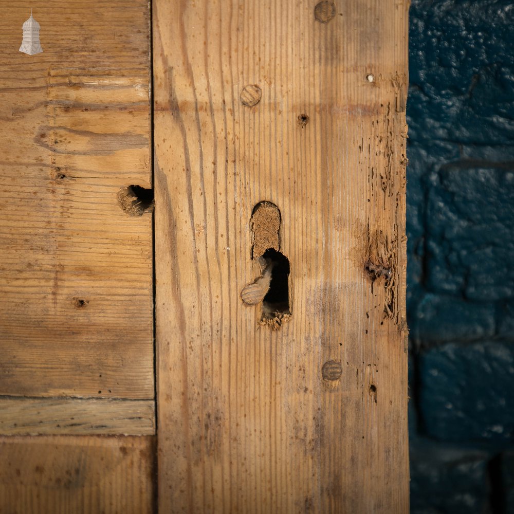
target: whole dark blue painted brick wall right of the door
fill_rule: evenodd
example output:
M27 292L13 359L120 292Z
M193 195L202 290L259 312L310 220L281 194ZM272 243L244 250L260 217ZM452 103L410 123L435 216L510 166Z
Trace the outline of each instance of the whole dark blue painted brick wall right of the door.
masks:
M514 3L413 0L411 512L514 513Z

